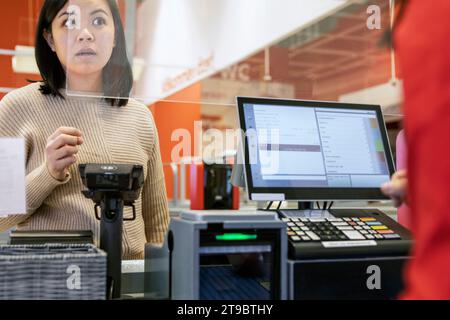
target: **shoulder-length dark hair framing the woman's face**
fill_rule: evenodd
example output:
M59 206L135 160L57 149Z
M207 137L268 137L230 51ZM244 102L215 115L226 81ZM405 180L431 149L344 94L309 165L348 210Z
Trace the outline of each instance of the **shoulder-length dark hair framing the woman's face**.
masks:
M36 30L36 62L42 77L42 94L64 98L59 89L65 86L66 74L58 59L44 38L44 31L51 31L51 24L57 13L68 0L45 0ZM125 33L115 0L106 0L112 12L115 27L115 47L111 58L103 68L103 92L111 106L125 106L133 86L133 72L127 57Z

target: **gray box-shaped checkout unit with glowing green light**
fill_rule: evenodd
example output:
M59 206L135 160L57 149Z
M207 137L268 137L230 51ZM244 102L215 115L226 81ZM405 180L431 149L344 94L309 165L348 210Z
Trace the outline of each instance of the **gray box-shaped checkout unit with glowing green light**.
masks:
M185 211L148 245L148 298L284 300L286 224L275 212Z

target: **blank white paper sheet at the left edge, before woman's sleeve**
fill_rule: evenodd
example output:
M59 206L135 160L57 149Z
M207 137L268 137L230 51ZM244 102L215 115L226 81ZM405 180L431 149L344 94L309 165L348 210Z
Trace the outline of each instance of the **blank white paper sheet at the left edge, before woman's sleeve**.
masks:
M0 138L0 217L26 213L25 141Z

